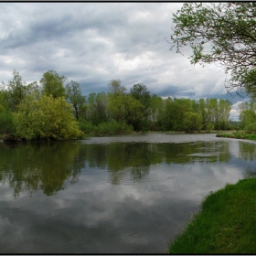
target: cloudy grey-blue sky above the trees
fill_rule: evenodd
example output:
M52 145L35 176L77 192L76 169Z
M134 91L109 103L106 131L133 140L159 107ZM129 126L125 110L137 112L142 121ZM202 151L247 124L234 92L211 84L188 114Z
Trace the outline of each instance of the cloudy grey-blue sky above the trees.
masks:
M16 69L27 83L55 70L82 93L108 91L121 80L129 92L143 83L161 97L228 99L239 120L240 96L230 96L227 75L202 68L170 50L173 13L183 3L0 3L0 82Z

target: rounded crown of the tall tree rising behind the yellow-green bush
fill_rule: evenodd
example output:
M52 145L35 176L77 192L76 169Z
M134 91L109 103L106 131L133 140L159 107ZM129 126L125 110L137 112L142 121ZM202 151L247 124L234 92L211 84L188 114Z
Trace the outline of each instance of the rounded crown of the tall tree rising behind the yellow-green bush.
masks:
M40 80L42 93L48 96L52 95L53 98L65 97L64 83L66 80L66 77L59 76L56 71L48 70Z

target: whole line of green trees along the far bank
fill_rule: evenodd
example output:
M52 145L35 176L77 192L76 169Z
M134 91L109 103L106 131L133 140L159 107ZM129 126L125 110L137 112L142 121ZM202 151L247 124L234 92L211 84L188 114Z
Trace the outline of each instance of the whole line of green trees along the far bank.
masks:
M14 69L0 90L0 133L28 140L80 138L86 134L133 131L227 130L231 102L218 99L163 99L143 83L128 92L121 80L108 91L82 94L80 84L48 70L27 84Z

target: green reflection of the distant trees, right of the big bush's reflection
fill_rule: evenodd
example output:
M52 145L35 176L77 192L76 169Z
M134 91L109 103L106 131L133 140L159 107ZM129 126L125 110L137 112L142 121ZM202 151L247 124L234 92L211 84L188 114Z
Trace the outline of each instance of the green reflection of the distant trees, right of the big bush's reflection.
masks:
M189 156L191 154L209 154L206 156ZM97 166L110 172L109 181L120 184L125 176L131 174L140 180L148 175L150 165L189 164L204 160L206 163L228 162L229 143L115 143L87 144L87 160L91 167Z

